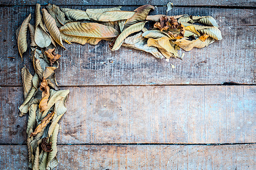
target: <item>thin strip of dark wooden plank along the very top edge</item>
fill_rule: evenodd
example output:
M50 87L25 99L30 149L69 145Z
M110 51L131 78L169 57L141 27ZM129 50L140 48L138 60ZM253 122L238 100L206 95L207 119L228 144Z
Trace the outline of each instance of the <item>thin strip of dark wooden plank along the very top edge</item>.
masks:
M8 0L1 0L0 5L35 5L35 3L41 3L42 5L46 5L47 3L54 3L56 5L157 5L163 6L166 5L168 0L158 1L158 0L135 0L135 1L118 1L118 0L106 0L106 1L89 1L89 0L80 0L80 1L72 1L72 0L31 0L31 1L24 1L24 0L15 0L15 1L8 1ZM256 6L255 1L253 0L234 0L234 1L226 1L226 0L192 0L192 1L181 1L181 0L173 0L171 1L174 3L175 6L249 6L253 7Z

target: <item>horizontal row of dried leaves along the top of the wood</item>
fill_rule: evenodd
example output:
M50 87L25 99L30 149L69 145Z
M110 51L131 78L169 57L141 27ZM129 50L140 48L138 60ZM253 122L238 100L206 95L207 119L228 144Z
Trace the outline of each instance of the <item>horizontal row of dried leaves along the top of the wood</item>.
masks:
M29 23L29 15L18 30L20 56L27 50L27 26L30 28L31 46L46 48L57 43L64 48L63 41L96 45L106 40L112 42L112 50L123 45L151 53L156 58L179 57L177 50L180 48L189 51L222 39L212 16L148 15L154 9L151 5L134 11L121 11L120 8L82 11L48 4L47 10L42 9L42 19L40 5L37 4L35 26ZM148 21L155 23L151 30L145 27Z

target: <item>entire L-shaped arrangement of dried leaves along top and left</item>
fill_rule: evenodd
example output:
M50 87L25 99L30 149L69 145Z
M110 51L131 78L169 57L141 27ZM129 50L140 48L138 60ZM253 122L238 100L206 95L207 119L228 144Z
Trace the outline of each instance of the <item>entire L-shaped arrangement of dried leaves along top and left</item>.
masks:
M172 4L167 7L168 12ZM151 5L134 11L121 11L120 6L82 11L48 4L42 9L43 16L40 8L36 4L35 25L30 24L30 14L16 30L21 57L27 50L27 28L30 30L30 58L35 69L34 76L26 66L22 69L24 102L19 107L19 116L29 113L27 149L28 167L32 169L53 169L58 164L58 122L67 111L69 90L59 90L55 79L60 58L57 45L64 48L63 41L96 45L106 40L111 50L123 45L169 59L180 58L180 48L189 51L222 39L212 16L148 15L154 10Z

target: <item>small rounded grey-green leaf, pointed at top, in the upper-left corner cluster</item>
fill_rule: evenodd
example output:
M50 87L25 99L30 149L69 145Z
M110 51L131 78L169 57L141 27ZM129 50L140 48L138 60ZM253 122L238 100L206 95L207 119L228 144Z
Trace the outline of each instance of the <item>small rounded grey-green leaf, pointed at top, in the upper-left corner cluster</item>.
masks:
M51 36L40 25L35 29L35 43L40 48L47 47L51 44Z

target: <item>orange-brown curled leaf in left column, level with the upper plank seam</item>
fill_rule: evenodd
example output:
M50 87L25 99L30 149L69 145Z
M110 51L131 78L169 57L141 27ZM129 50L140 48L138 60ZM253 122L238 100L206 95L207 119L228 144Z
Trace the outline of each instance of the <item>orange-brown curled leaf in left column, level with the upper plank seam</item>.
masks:
M40 99L40 103L39 103L39 109L41 112L43 112L47 109L47 102L50 95L49 86L45 78L41 82L40 90L42 90L43 92L42 92L42 99Z

